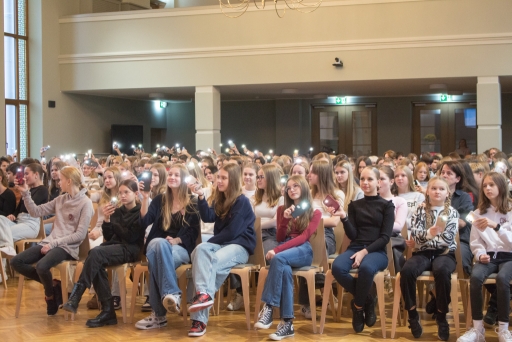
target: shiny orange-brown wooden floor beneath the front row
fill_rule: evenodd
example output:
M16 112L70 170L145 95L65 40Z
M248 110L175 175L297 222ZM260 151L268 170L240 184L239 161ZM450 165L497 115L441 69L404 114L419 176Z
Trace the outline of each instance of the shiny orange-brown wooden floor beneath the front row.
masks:
M20 317L14 317L16 305L17 278L7 281L8 290L0 288L0 340L1 341L157 341L157 340L181 340L192 341L266 341L268 334L275 331L275 324L269 330L247 330L244 311L230 312L221 310L220 316L211 316L208 323L207 333L200 338L187 336L188 326L184 326L183 319L176 315L168 315L168 326L162 329L137 330L133 324L122 323L122 314L119 310L116 326L103 328L87 328L85 321L98 314L96 310L87 310L85 303L90 298L85 294L76 315L75 321L65 321L64 314L60 311L56 316L46 316L46 303L43 299L42 285L35 281L25 281L23 299L20 310ZM131 282L128 293L131 293ZM129 301L130 295L128 295ZM139 297L135 311L135 320L142 319L148 315L140 311L140 305L144 298ZM251 296L251 302L254 295ZM386 299L387 315L387 339L390 340L391 331L391 305L392 297ZM459 302L461 315L461 333L464 333L464 315L462 305ZM295 337L289 341L380 341L382 340L380 321L372 328L365 327L360 334L352 330L351 319L346 312L341 323L334 323L330 316L327 317L327 324L322 335L313 334L311 321L305 320L300 314L300 307L296 306L296 319L294 321ZM318 308L319 309L319 308ZM407 327L397 328L397 341L437 341L437 326L428 315L421 311L424 333L421 339L414 339ZM320 318L320 310L318 310ZM451 327L450 341L455 341L455 329L451 314L448 316ZM277 322L276 322L277 323ZM497 334L492 329L486 331L487 341L497 341Z

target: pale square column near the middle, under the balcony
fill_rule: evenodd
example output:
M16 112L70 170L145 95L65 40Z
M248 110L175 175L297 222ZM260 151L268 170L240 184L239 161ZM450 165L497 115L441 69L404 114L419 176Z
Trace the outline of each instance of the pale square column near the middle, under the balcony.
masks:
M215 149L220 144L220 93L214 86L196 87L196 150Z

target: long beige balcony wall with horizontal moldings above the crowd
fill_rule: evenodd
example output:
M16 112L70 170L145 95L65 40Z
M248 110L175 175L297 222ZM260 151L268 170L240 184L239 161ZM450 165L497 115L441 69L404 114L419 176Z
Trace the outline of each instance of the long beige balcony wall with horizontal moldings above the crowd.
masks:
M63 18L62 90L512 75L508 0L354 3Z

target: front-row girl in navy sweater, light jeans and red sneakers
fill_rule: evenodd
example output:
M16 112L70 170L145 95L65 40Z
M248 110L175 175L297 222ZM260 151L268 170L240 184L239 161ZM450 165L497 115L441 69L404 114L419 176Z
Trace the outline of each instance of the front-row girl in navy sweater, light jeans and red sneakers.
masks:
M215 222L213 237L192 253L192 277L196 296L189 308L192 327L189 336L206 332L213 296L233 266L246 263L256 247L254 212L249 199L242 195L240 167L224 165L217 174L217 191L212 206L202 189L189 188L198 194L199 214L204 222Z

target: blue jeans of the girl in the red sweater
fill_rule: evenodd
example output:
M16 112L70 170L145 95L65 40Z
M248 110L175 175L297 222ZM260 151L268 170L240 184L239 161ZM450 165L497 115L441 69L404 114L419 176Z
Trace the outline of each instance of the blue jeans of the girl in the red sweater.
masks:
M294 318L292 267L310 266L312 261L313 249L307 241L277 253L270 260L261 300L268 305L280 307L281 318Z

